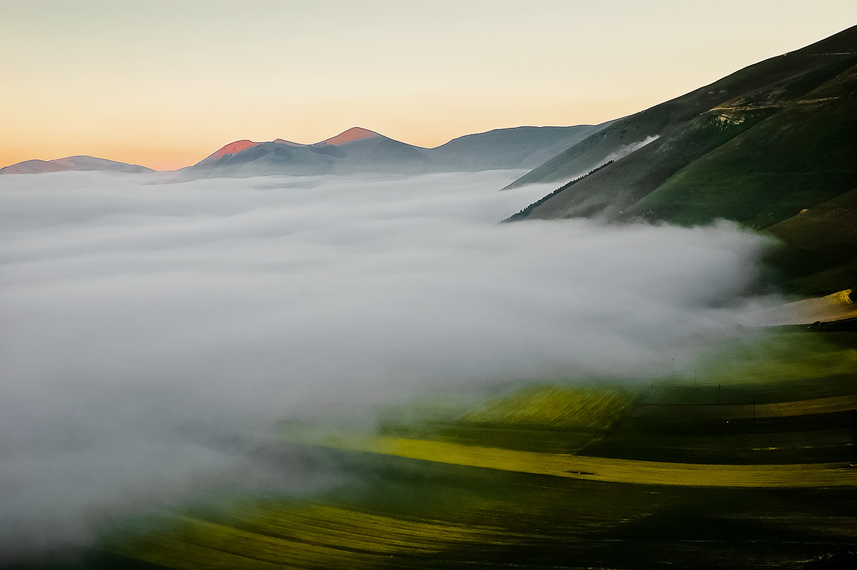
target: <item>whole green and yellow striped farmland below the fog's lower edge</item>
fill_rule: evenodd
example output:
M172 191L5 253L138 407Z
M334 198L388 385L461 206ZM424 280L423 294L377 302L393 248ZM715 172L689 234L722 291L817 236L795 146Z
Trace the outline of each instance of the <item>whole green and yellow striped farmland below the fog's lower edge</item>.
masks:
M691 376L417 394L377 429L290 420L335 471L128 519L93 568L833 568L857 553L854 333L712 343Z

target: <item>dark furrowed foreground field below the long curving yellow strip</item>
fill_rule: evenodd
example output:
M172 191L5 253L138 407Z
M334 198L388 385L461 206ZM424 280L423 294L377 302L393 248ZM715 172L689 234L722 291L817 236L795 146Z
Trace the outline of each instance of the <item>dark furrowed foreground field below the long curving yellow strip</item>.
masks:
M234 501L121 553L173 568L803 567L847 560L854 540L854 494L837 489L651 488L431 464L415 477L411 464L356 460L364 483L318 502Z

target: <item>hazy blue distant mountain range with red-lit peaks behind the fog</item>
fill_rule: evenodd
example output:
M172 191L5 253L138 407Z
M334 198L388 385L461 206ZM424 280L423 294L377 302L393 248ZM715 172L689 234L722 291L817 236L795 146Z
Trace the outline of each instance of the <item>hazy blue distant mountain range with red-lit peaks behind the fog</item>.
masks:
M530 168L608 124L495 129L464 135L435 148L415 147L353 127L309 145L283 139L231 142L183 172L190 176L245 177Z

